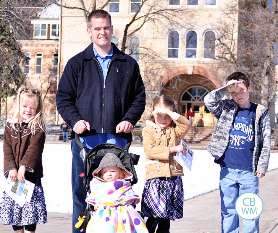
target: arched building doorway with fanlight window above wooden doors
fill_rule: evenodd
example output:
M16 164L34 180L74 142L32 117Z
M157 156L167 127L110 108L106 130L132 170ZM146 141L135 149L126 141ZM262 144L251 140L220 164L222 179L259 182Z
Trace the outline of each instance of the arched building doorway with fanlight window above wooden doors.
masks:
M212 114L204 103L204 97L209 91L201 86L193 86L184 91L180 99L181 114L187 116L188 110L192 107L195 111L192 126L211 127L213 122Z

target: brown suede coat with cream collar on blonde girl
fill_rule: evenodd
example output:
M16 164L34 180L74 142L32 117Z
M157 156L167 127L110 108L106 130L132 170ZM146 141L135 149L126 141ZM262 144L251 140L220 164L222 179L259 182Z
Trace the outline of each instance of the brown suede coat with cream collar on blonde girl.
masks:
M31 134L28 123L15 124L12 128L11 119L7 119L4 131L4 176L9 170L26 167L25 177L43 177L41 155L45 142L45 132Z

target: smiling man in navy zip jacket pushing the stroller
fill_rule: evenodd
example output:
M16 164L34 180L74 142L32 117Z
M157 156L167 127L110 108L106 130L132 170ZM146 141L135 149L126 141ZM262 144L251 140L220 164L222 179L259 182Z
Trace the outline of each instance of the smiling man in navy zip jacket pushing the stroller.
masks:
M145 108L145 88L137 62L111 43L113 26L105 10L88 15L87 32L93 38L83 52L72 57L59 82L59 114L72 127L72 195L74 224L85 210L82 152L75 133L87 148L101 143L125 146Z

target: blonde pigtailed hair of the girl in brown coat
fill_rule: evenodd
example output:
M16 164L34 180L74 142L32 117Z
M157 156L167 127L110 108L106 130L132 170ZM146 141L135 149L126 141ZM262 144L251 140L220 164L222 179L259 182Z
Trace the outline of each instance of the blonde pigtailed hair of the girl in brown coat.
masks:
M30 120L28 124L28 128L31 129L32 135L34 135L36 132L39 131L45 131L46 125L43 120L43 99L42 99L42 92L40 90L36 90L34 88L26 88L25 86L21 86L17 90L17 96L15 99L15 111L14 115L12 116L12 127L15 130L15 122L20 122L20 103L26 101L32 101L32 103L37 107L37 111L35 116L33 116L33 119Z

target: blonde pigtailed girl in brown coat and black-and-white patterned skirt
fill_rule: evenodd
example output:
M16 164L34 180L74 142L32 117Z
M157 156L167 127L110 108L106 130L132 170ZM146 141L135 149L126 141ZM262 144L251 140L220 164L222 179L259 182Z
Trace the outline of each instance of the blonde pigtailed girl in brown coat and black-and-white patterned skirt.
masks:
M12 225L14 232L35 232L36 224L47 223L41 177L41 156L45 142L42 93L21 86L15 111L4 131L4 176L13 182L28 180L35 184L30 202L18 205L5 191L0 203L0 221ZM17 181L17 182L18 182Z

